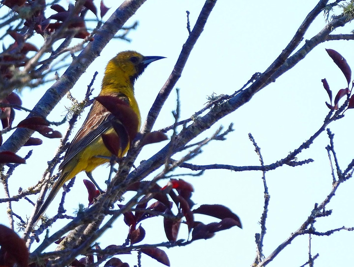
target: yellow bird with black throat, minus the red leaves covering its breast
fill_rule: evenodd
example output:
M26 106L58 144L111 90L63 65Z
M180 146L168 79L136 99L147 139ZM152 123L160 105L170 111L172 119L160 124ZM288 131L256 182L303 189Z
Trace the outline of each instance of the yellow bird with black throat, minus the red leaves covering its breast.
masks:
M129 123L130 119L138 120L132 122L132 125L137 127L137 129L134 129L136 132L140 129L141 115L134 96L134 82L151 62L161 58L165 57L144 57L135 51L124 51L112 58L105 69L102 90L99 96L114 96L122 103L125 103L126 106L129 105L136 116L135 118L125 118L125 121ZM112 153L104 145L102 134L113 134L117 137L117 132L113 126L119 123L120 121L117 117L103 107L101 103L96 100L93 102L84 124L71 142L63 162L59 166L59 170L62 171L61 175L53 185L44 203L34 214L32 225L35 225L39 221L65 182L72 179L81 171L90 173L97 166L109 161ZM117 139L119 139L119 136ZM128 141L127 144L125 143L125 147L119 149L117 156L121 157L124 155L129 147L130 143Z

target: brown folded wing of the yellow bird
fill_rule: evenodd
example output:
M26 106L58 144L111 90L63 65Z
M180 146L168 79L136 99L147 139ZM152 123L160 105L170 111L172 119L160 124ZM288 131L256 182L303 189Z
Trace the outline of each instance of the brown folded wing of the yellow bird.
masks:
M118 97L129 103L126 96L118 95ZM100 103L94 101L84 124L82 124L78 133L76 133L76 136L65 153L64 159L59 165L59 170L79 152L85 149L93 140L112 127L112 120L115 120L115 117Z

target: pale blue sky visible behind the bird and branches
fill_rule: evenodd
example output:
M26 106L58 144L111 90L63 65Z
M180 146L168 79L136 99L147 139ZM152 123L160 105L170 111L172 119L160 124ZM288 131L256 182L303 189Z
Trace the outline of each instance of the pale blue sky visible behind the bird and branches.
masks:
M104 17L107 19L122 1L105 0L112 9ZM247 1L218 1L213 9L205 29L197 41L183 70L182 77L176 87L180 88L181 119L189 118L197 110L204 107L207 96L212 93L232 94L239 90L256 72L263 72L281 53L291 40L299 25L318 1L260 1L252 4ZM99 6L99 1L95 1ZM191 27L194 26L204 1L166 1L150 0L139 8L127 22L131 25L139 21L135 31L129 33L130 43L112 40L101 55L81 76L74 86L72 94L81 100L90 83L93 73L98 75L93 87L93 95L97 95L105 65L116 53L124 50L136 50L145 56L165 56L166 59L152 63L135 84L136 98L139 103L143 120L146 118L157 93L171 73L179 56L182 45L188 37L186 29L187 17L190 12ZM64 2L65 6L65 2ZM1 12L7 12L2 7ZM325 17L321 13L305 34L310 39L325 26ZM336 30L334 33L350 33L353 24ZM35 36L33 43L36 42ZM304 44L304 40L301 46ZM317 46L309 55L294 68L282 75L275 83L258 92L249 103L218 121L195 141L212 135L219 127L226 129L234 124L233 132L226 141L213 141L197 158L194 164L230 164L236 166L259 165L257 154L248 139L252 133L259 147L265 164L274 163L285 158L290 151L298 148L309 139L322 125L329 109L327 93L322 87L321 79L326 78L334 94L338 89L346 87L346 80L325 49L330 48L341 53L350 66L354 66L353 41L330 41ZM62 73L59 73L62 74ZM50 87L50 83L38 89L25 89L22 92L23 106L33 108L35 103ZM48 119L60 121L66 114L65 107L70 102L63 99L49 115ZM172 110L176 109L176 92L173 91L161 110L153 130L173 124ZM86 113L88 109L86 110ZM86 117L82 115L76 130ZM353 158L353 110L345 113L345 118L330 125L335 133L335 147L341 169L346 169ZM17 112L14 125L27 114ZM56 130L64 133L67 124ZM171 132L168 133L171 135ZM34 137L42 138L35 133ZM73 138L72 135L71 138ZM35 184L47 167L47 161L55 154L59 140L42 138L44 143L38 147L24 147L18 154L24 156L29 149L33 155L27 164L19 166L10 180L11 194L16 194L18 187L27 188ZM148 159L167 141L144 147L136 165ZM296 168L282 166L266 174L270 194L267 234L264 239L264 254L268 256L281 242L310 215L315 203L321 203L332 187L331 169L325 147L329 143L326 133L298 155L298 160L314 159L314 163ZM179 155L181 156L181 155ZM178 159L178 156L173 157ZM189 173L188 170L177 169L176 173ZM109 173L106 166L93 172L96 181L104 187L104 180ZM103 178L100 179L99 177ZM209 240L196 242L181 248L166 249L171 266L250 266L256 256L255 233L260 232L259 220L263 211L263 182L260 171L233 172L229 170L207 170L200 177L184 176L183 179L192 183L195 189L193 200L198 207L201 204L222 204L228 206L241 219L243 229L234 227L221 231ZM71 192L67 195L65 209L68 214L73 212L78 203L87 205L87 191L80 174ZM150 176L149 179L152 179ZM161 181L165 185L167 181ZM327 206L333 209L329 217L320 218L315 223L317 231L328 231L333 228L352 227L353 225L353 180L347 181L337 191L336 196ZM61 195L59 193L58 195ZM125 197L129 200L129 194ZM0 193L4 197L4 193ZM35 201L35 198L31 198ZM59 197L51 204L56 209ZM16 213L25 216L32 212L31 206L24 201L13 203ZM50 208L49 208L50 209ZM0 223L8 225L6 204L0 204ZM47 211L54 215L56 210ZM198 217L196 220L212 222L211 218ZM53 225L51 232L60 228L61 223ZM154 218L142 222L147 232L142 243L166 242L162 218ZM122 244L126 238L128 227L119 218L113 228L99 240L104 248L110 244ZM312 254L319 253L316 266L343 266L352 260L353 232L339 232L330 237L313 237ZM187 229L182 228L179 239L187 239ZM142 244L141 243L141 244ZM35 248L36 244L33 245ZM137 264L136 255L122 255L120 259L130 266ZM308 261L308 236L296 238L291 245L282 251L269 266L301 266ZM142 256L144 266L163 266Z

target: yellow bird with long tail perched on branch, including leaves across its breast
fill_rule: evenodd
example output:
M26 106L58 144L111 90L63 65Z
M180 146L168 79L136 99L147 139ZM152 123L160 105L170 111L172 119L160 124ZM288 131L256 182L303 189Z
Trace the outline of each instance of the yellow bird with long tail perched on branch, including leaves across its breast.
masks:
M91 173L115 154L122 157L140 129L141 116L134 96L134 82L153 61L165 57L124 51L112 58L105 69L102 90L93 102L87 118L71 142L61 175L32 219L35 225L63 184L81 171Z

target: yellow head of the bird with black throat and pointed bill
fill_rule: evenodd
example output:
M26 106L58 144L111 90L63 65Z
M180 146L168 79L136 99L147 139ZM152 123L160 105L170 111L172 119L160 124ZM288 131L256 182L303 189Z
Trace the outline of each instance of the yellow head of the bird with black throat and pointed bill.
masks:
M143 56L135 51L124 51L112 58L106 68L106 74L113 72L116 79L119 76L124 80L129 80L133 85L135 80L142 74L145 68L156 60L165 57Z

